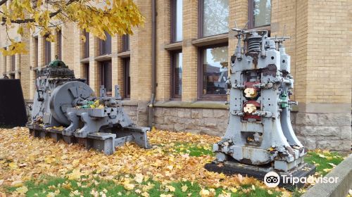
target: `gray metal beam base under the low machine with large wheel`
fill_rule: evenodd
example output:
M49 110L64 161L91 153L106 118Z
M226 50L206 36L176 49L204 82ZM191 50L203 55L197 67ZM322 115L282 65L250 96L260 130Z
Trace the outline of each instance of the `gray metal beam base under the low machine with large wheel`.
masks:
M115 152L115 147L122 146L127 141L132 141L142 148L150 148L146 132L149 128L146 127L125 127L121 128L117 134L108 132L95 132L88 134L86 138L73 136L65 136L61 130L49 127L42 127L38 124L27 124L30 129L30 135L38 138L50 137L55 141L65 141L65 143L78 143L87 149L93 148L96 151L102 151L106 155L111 155Z

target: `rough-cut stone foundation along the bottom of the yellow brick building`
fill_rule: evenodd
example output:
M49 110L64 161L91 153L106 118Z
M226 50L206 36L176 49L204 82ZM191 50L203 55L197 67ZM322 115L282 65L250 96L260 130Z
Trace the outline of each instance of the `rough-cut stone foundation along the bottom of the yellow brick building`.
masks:
M147 125L147 110L124 106L139 126ZM137 113L139 109L139 113ZM141 110L143 109L143 110ZM157 129L223 136L227 128L228 110L210 108L154 108L153 125ZM351 151L351 113L291 113L291 123L306 148Z

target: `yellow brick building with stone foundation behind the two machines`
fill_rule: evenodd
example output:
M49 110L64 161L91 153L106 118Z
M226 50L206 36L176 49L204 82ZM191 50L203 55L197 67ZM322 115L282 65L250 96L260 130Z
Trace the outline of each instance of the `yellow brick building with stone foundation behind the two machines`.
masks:
M155 62L153 125L221 136L228 117L223 79L237 44L231 29L249 21L250 29L291 37L284 45L295 79L291 99L299 103L292 119L299 139L308 148L350 150L351 1L157 0L155 45L152 1L136 3L146 23L133 35L102 41L68 24L50 43L27 31L29 37L21 40L30 53L0 56L1 74L19 78L30 101L36 70L58 55L94 91L104 84L114 94L119 84L125 109L137 124L148 125ZM4 30L0 39L6 47Z

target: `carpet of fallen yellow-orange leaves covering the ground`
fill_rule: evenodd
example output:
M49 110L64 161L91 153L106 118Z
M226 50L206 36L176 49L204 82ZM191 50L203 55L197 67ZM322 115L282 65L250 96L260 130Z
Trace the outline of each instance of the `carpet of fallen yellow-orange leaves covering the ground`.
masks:
M208 154L212 144L220 140L215 136L153 130L148 133L153 148L144 149L127 143L117 148L113 155L104 155L77 144L34 138L28 133L26 128L0 129L0 185L12 183L20 189L18 192L25 191L23 182L43 174L77 180L82 187L84 185L80 182L84 179L94 185L99 184L96 178L111 180L144 197L149 196L149 190L154 186L149 179L161 182L165 196L176 192L172 182L196 182L202 188L196 193L200 196L213 196L216 188L226 190L221 196L229 196L229 192L239 192L241 185L253 185L250 189L265 187L257 179L227 176L204 168L206 163L215 159ZM196 152L196 156L190 149ZM116 179L121 174L126 175ZM189 185L180 187L182 192L192 192ZM70 196L82 195L80 191L72 191L69 182L61 184L61 188L69 189ZM50 189L48 195L58 195L56 188L51 186ZM89 192L92 196L105 195L101 191Z

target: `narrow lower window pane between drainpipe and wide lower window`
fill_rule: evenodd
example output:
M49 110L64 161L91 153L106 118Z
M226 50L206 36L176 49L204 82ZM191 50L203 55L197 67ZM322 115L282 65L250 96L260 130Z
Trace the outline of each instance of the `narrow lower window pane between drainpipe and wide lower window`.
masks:
M177 95L177 96L181 96L182 95L182 53L175 53L174 54L174 65L173 65L173 69L174 69L174 76L175 76L175 80L174 80L174 92L173 94Z

